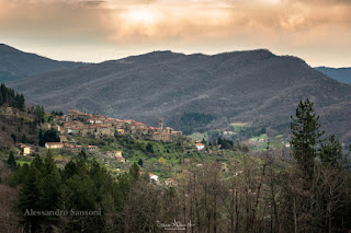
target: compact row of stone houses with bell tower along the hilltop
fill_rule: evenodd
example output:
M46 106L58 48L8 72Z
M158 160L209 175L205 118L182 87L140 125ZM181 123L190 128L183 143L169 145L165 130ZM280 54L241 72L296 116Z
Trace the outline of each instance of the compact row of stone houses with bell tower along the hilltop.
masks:
M67 112L64 117L64 127L58 131L61 133L71 133L77 136L93 136L95 138L113 137L118 135L137 135L145 136L150 140L156 141L172 141L182 136L181 131L174 131L170 127L163 128L163 120L159 120L159 127L148 127L143 123L132 119L121 120L101 115L80 113L75 109Z

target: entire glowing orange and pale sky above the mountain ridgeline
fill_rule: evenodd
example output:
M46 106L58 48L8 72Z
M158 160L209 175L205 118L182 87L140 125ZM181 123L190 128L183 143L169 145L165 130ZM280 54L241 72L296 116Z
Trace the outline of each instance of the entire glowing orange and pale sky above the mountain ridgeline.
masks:
M267 48L351 67L351 0L0 0L0 43L88 62Z

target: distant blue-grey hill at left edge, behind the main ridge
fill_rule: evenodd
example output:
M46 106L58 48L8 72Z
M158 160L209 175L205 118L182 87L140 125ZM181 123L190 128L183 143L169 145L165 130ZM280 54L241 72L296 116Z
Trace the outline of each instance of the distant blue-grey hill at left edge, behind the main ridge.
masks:
M14 81L53 70L70 69L82 62L56 61L0 44L0 82Z

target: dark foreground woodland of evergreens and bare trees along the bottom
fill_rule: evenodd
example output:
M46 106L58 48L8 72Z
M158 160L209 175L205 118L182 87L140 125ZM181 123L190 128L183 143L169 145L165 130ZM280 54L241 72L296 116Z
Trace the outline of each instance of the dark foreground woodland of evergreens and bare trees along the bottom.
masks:
M172 184L150 179L136 163L115 179L84 152L64 168L53 151L23 166L13 165L10 153L9 168L0 166L0 197L14 206L0 201L8 210L0 226L4 232L348 231L350 152L325 135L309 100L299 102L291 130L292 158L268 143L265 152L237 151L226 166L220 154L201 165L186 163Z

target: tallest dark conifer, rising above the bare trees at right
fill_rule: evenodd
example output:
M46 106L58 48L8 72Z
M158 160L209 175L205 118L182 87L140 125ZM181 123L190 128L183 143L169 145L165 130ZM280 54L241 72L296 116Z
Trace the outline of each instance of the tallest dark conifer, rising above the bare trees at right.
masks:
M317 145L320 142L319 138L324 135L324 131L319 130L319 116L316 115L313 106L314 103L308 98L305 102L301 101L296 108L296 116L291 117L293 154L307 176L313 174Z

